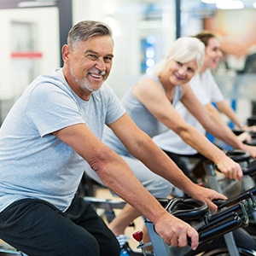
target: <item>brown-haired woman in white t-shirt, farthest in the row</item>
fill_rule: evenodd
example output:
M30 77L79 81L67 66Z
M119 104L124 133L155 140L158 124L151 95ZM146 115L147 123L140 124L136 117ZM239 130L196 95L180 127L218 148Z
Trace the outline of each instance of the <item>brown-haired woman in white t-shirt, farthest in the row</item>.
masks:
M196 34L195 38L200 39L206 47L206 55L203 65L199 72L196 73L189 82L195 96L197 96L198 100L203 103L205 108L207 108L207 111L213 113L216 112L218 114L216 108L212 107L212 102L214 102L218 111L232 120L238 128L241 128L241 130L255 131L256 126L248 127L241 123L236 113L224 100L224 95L212 76L212 70L218 67L218 63L223 56L218 37L212 32L202 31ZM186 108L182 102L178 102L175 109L189 125L193 125L198 131L201 131L202 134L206 134L206 129L191 113L189 113L189 109ZM221 119L220 115L218 115L218 117ZM239 139L243 142L245 140L250 140L251 137L247 132L243 132L239 136ZM154 142L159 145L159 147L162 148L187 175L189 174L189 169L182 160L183 156L201 160L201 154L198 154L195 148L190 147L181 139L181 137L178 136L176 132L172 130L154 137ZM243 148L240 148L241 150L247 151L252 155L252 157L255 157L255 147L248 146L246 144L241 144L241 146L243 146Z

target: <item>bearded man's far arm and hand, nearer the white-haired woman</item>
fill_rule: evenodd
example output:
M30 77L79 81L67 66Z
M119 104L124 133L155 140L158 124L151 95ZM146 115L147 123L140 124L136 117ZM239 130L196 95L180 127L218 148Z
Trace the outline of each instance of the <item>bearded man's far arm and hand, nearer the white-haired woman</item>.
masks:
M177 188L182 189L187 195L205 201L209 207L216 210L216 206L212 204L212 197L219 195L216 195L212 190L201 189L189 177L186 177L153 140L145 132L138 129L127 113L110 124L109 127L124 143L125 148L138 160L141 160L149 170L161 177L165 177L166 180ZM239 169L238 166L236 167Z

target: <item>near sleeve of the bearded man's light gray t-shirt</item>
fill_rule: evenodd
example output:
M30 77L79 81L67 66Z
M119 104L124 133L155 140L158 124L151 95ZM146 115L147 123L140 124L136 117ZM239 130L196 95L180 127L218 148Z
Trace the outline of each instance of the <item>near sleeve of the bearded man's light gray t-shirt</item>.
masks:
M54 84L38 84L29 96L26 114L41 137L69 125L84 123L72 96Z

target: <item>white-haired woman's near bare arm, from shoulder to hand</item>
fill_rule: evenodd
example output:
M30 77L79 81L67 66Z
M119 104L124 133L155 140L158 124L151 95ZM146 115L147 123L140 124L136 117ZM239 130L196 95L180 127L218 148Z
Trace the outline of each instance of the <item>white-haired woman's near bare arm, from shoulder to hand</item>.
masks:
M183 88L184 91L188 89L189 88L186 87ZM168 92L163 91L159 84L151 79L143 79L134 88L133 94L148 108L148 111L152 113L156 119L172 131L175 131L185 143L188 143L199 153L216 163L219 170L221 170L226 177L241 179L241 168L237 167L236 163L230 160L222 150L209 142L207 137L202 135L201 132L197 131L193 126L188 125L183 120L167 98ZM172 92L170 95L172 96Z

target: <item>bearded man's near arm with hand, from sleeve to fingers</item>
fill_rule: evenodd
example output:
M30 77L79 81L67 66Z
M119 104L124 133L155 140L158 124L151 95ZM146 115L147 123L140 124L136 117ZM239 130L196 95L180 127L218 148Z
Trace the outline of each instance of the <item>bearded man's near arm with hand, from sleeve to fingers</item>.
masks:
M127 124L127 127L129 127L129 124ZM120 130L121 128L119 128ZM125 132L127 132L126 130ZM154 223L154 229L166 244L184 247L187 245L187 236L189 236L192 241L191 247L195 249L198 246L198 233L195 229L166 212L154 196L138 181L125 161L104 145L86 125L71 125L60 131L55 131L54 135L81 155L109 189L112 189L132 207L135 207L146 218L151 220ZM138 133L139 135L140 132ZM146 151L145 143L147 141L143 143L143 149ZM158 147L154 144L154 148ZM164 154L161 151L160 153ZM148 154L148 158L150 156ZM154 155L154 158L157 158L156 155ZM216 198L222 198L221 195L218 196L217 192L215 196Z

